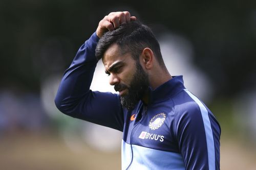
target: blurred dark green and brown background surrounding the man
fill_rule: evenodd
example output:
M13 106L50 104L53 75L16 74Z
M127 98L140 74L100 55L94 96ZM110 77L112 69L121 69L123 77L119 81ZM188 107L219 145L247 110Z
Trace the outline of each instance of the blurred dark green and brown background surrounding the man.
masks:
M221 169L256 169L256 3L230 0L1 0L1 169L121 168L120 132L63 115L53 101L99 20L124 10L153 29L170 74L216 115ZM92 89L113 89L103 70Z

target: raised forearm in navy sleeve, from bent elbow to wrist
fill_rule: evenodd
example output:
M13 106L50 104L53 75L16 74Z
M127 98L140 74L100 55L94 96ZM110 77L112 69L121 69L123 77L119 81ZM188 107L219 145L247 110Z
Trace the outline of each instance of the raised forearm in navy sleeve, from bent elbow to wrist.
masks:
M72 64L63 75L55 97L55 104L65 114L73 114L72 111L76 107L77 102L90 91L90 85L97 64L95 58L97 42L98 37L94 33L79 48Z

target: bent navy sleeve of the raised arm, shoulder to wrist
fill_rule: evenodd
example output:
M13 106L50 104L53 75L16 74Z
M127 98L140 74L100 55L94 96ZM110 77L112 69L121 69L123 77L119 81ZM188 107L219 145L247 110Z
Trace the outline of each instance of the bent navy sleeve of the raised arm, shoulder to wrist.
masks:
M65 71L55 97L56 107L63 113L95 124L123 131L123 112L118 94L91 91L97 60L94 33L78 50Z

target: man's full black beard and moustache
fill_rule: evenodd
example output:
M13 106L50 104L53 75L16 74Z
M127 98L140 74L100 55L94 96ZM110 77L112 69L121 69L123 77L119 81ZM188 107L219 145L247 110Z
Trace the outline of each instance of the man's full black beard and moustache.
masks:
M137 103L142 99L143 95L148 90L148 86L150 85L148 81L148 75L143 70L139 62L136 62L136 72L134 77L130 83L130 87L124 84L115 85L115 90L118 91L120 89L127 89L127 94L120 96L121 104L127 110L133 110Z

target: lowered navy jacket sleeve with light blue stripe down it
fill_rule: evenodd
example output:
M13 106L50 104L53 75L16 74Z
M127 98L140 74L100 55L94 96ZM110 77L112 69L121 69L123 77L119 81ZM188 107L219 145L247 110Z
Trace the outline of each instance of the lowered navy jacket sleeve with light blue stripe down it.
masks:
M184 91L184 98L175 100L175 134L184 165L186 169L220 169L219 124L195 95Z

